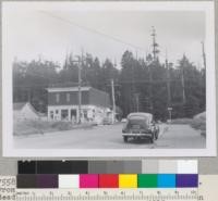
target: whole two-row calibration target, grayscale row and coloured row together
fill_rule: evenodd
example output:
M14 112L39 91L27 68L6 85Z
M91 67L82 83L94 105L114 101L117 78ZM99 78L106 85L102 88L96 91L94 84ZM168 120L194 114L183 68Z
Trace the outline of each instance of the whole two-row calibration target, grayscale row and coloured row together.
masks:
M196 160L19 162L17 188L195 188Z

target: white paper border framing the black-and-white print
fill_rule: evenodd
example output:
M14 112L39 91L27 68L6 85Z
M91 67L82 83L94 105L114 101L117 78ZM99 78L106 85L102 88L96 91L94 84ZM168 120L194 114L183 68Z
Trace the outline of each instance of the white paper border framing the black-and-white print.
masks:
M13 147L12 66L7 47L5 12L11 9L59 11L204 11L206 14L206 148L205 149L15 149ZM2 146L3 156L114 158L216 156L216 73L214 1L142 2L2 2Z

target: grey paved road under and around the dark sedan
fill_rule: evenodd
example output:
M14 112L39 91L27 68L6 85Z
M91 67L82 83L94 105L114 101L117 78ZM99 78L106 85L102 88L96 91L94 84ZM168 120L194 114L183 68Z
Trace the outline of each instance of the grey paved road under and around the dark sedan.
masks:
M14 137L15 148L66 149L171 149L205 148L206 140L189 125L160 125L155 143L149 140L123 142L122 124L96 126L86 129L49 133L28 137Z

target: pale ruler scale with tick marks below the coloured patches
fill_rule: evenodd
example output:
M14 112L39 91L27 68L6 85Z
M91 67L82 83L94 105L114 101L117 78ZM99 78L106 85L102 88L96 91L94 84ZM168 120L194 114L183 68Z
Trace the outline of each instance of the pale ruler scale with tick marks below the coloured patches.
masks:
M33 190L35 193L25 193L26 191ZM69 189L70 190L70 189ZM154 189L146 189L146 190L98 190L93 189L88 191L81 191L81 190L72 190L69 193L69 190L56 190L53 191L53 196L51 196L51 190L36 190L36 189L22 189L17 190L19 192L24 193L16 193L17 200L21 201L44 201L44 200L55 200L55 201L69 201L69 200L145 200L145 201L160 201L160 200L189 200L195 201L197 200L197 190L184 190L179 189L180 193L174 190L154 190ZM194 190L194 191L193 191ZM87 193L88 192L88 193ZM39 193L39 196L37 196ZM41 193L41 194L40 194Z

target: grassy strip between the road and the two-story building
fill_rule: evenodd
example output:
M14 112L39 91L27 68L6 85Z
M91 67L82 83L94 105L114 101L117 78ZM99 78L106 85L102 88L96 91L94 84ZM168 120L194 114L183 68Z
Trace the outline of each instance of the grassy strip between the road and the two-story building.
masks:
M93 125L89 123L75 125L71 122L47 122L47 121L22 121L14 123L13 130L15 136L33 135L33 134L45 134L61 130L71 130L77 128L92 128Z

